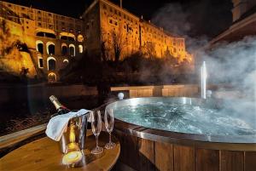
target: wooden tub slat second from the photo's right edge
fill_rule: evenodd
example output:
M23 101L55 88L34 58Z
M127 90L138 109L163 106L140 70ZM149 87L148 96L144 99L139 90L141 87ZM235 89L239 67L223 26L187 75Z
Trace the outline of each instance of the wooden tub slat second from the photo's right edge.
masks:
M221 171L243 171L243 152L221 151Z

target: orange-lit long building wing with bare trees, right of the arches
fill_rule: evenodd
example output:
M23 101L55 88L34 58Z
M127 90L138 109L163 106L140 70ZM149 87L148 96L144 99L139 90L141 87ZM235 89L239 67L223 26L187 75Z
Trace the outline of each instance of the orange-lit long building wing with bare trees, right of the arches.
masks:
M137 52L159 58L172 55L179 62L192 60L183 37L173 37L143 17L122 9L121 5L107 0L94 1L82 17L89 54L101 54L103 58L114 60L118 48L121 48L120 60Z

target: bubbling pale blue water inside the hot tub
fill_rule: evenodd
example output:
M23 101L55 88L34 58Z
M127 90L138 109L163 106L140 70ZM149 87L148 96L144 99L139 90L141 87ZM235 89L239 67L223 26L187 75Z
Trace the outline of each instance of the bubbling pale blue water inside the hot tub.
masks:
M243 113L220 110L201 105L178 105L151 102L143 105L125 105L114 109L114 116L126 123L146 128L207 135L256 134L255 117L246 121ZM236 117L235 117L236 116ZM248 115L247 115L248 117Z

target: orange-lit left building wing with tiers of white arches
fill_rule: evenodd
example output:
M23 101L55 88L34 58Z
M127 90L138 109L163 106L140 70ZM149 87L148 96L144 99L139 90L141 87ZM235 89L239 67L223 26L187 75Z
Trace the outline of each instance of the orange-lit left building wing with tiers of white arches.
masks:
M59 71L83 53L82 20L6 2L0 2L0 10L0 20L29 48L37 70L34 75L41 73L55 82Z

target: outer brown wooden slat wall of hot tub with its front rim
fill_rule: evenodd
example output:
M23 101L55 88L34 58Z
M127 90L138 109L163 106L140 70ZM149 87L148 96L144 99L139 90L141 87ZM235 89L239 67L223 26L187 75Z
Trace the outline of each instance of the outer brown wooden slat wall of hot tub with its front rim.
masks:
M255 135L183 134L145 128L119 119L115 119L114 134L121 146L119 166L122 170L256 170Z

